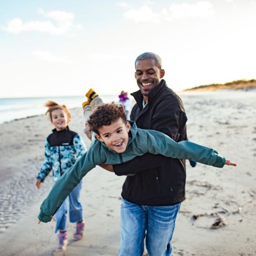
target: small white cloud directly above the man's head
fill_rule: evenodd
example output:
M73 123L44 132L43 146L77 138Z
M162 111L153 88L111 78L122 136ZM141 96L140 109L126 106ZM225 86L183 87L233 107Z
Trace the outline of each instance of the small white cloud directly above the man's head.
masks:
M127 10L123 16L135 22L159 22L159 14L153 13L153 10L147 5L138 9Z

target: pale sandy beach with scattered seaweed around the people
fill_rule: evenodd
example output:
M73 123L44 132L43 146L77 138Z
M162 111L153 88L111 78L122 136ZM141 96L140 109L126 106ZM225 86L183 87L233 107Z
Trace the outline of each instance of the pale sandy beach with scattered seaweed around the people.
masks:
M182 94L191 141L213 147L237 167L187 163L187 194L173 235L173 255L256 255L255 91ZM82 109L72 110L71 130L83 136ZM37 224L53 184L35 187L52 126L44 115L0 125L0 255L118 255L120 200L125 177L96 167L83 179L85 237L54 252L55 221Z

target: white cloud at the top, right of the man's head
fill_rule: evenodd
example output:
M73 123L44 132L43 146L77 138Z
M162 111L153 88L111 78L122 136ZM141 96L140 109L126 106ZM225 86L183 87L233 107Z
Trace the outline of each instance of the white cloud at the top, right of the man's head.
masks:
M172 4L167 10L164 9L163 13L168 20L172 20L184 17L213 16L214 9L210 2L201 1L194 4Z

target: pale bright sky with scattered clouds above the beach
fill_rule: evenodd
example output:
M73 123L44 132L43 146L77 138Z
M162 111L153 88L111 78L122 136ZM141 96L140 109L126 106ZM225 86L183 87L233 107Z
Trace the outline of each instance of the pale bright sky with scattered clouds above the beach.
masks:
M0 97L131 93L143 52L174 91L253 79L255 13L255 0L1 0Z

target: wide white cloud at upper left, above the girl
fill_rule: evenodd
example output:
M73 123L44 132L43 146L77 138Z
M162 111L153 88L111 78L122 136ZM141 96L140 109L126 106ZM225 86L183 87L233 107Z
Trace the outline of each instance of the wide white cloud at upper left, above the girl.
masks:
M74 29L82 29L81 25L73 24L73 13L67 13L66 11L60 10L46 12L43 9L39 9L39 13L44 16L46 20L22 21L20 18L14 18L11 19L6 26L2 26L1 29L8 33L16 34L21 32L36 31L55 35L70 33L70 31L73 31Z

